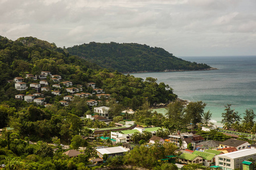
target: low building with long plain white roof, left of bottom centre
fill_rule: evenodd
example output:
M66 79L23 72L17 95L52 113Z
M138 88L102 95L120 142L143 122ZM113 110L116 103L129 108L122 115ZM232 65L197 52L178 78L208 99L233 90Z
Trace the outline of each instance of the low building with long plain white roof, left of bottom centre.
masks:
M97 155L101 159L103 159L104 154L107 154L108 156L115 156L115 155L123 155L123 153L127 152L127 150L122 146L100 148L100 149L96 149L96 151L97 151Z

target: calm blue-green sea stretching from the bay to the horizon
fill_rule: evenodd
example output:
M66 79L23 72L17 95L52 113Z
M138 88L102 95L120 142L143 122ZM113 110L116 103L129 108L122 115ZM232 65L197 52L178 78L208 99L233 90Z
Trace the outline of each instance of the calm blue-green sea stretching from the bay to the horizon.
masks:
M152 77L168 84L183 100L203 101L205 112L212 113L212 122L221 126L225 105L241 114L246 109L256 112L256 56L179 57L186 61L206 63L217 68L208 71L176 71L132 73L135 77ZM156 109L164 113L165 109Z

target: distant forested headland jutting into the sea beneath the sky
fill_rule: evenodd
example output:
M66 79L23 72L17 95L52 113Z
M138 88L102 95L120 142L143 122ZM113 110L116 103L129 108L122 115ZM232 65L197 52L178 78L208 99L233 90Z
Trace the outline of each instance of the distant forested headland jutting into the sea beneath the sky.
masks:
M152 48L136 43L97 43L75 45L68 52L97 63L101 67L120 72L205 70L210 66L184 61L163 48Z

